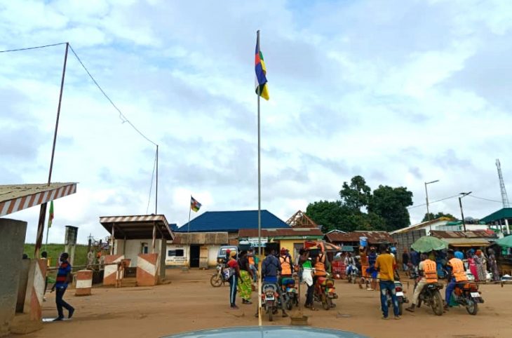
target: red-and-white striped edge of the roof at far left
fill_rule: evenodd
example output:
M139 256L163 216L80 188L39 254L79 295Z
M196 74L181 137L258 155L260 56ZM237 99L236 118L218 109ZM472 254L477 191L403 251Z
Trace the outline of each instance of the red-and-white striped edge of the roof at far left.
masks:
M13 212L24 210L35 205L47 203L57 198L76 193L76 183L60 183L60 186L55 187L57 184L59 183L50 184L50 187L48 187L47 184L27 184L31 187L38 187L27 187L27 194L24 196L13 198L8 201L0 201L0 216L8 215ZM41 190L41 192L37 192L37 189Z

